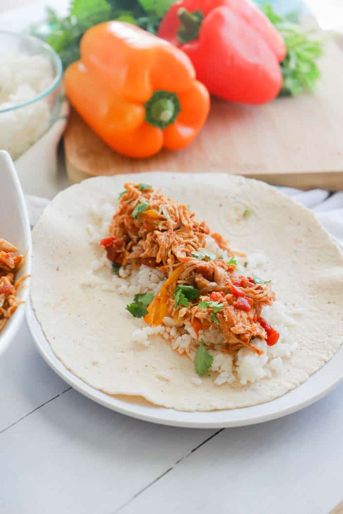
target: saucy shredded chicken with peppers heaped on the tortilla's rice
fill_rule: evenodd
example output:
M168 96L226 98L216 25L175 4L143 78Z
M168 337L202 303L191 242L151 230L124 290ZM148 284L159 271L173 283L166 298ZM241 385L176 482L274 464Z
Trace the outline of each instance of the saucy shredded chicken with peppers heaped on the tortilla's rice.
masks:
M179 325L189 321L197 338L201 330L214 325L223 337L222 351L233 353L247 346L260 355L261 350L251 344L251 339L258 337L268 343L265 327L269 325L261 318L261 310L275 300L270 284L257 284L251 277L240 276L236 264L206 255L206 236L210 234L228 255L244 256L231 251L229 242L221 234L211 233L205 222L197 222L185 205L149 186L142 191L134 183L125 183L124 187L110 237L100 244L113 262L158 267L168 276L148 307L146 322L159 325L165 316ZM194 254L199 250L205 253ZM191 286L197 298L177 304L177 286ZM206 346L211 347L211 342L207 341Z

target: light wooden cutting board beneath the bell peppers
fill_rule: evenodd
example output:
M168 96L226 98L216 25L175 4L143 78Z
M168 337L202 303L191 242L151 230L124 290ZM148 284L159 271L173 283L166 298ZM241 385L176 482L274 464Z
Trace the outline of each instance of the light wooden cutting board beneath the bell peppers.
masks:
M301 189L343 189L343 52L328 41L314 95L241 105L213 98L195 141L131 159L107 146L75 112L64 135L72 182L142 171L227 172Z

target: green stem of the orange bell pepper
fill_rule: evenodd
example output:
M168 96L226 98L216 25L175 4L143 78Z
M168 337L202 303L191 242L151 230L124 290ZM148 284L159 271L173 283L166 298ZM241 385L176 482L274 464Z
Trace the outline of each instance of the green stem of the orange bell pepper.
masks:
M150 100L145 104L146 122L159 128L166 128L174 123L180 113L180 102L176 93L170 91L155 91Z

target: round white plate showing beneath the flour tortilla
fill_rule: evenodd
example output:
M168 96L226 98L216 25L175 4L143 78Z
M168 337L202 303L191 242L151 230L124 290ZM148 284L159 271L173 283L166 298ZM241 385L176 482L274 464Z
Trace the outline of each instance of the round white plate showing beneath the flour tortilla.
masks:
M109 396L93 389L73 375L52 352L51 347L35 318L31 303L28 303L26 320L38 350L49 366L70 386L92 400L122 414L175 427L222 428L240 427L286 416L311 405L343 380L343 346L334 357L308 380L276 400L254 407L211 412L180 412L164 407L155 407L148 402L137 403Z

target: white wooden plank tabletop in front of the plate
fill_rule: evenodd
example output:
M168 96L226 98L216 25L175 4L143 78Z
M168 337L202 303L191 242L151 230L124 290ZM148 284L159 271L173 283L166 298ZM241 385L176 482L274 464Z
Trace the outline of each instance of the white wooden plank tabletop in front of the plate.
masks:
M1 514L328 514L343 500L343 386L261 425L153 425L68 387L24 324L0 391Z

